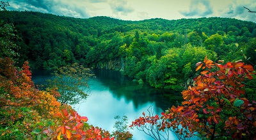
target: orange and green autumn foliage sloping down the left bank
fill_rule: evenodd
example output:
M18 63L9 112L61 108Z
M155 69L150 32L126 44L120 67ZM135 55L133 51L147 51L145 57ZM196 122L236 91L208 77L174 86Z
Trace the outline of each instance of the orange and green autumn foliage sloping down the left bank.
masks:
M12 59L0 58L0 139L114 139L58 96L35 88L28 62L17 70Z

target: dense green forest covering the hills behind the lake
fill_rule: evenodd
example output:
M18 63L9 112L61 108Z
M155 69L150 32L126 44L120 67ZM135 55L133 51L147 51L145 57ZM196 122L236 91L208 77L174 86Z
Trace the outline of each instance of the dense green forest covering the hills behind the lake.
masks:
M76 19L40 12L9 13L20 37L19 61L54 69L71 63L120 70L155 88L181 90L208 56L256 64L256 23L220 17L127 21Z

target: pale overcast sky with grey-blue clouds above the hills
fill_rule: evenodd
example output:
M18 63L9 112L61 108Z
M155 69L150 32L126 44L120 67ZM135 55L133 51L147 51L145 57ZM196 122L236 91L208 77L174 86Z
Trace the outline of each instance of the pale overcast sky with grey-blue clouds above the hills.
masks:
M255 0L9 0L8 10L122 20L230 17L256 22Z

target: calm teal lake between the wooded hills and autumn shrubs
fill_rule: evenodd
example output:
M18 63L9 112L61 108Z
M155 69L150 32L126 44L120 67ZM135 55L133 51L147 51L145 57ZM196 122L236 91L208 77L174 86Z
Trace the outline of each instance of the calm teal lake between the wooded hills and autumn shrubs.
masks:
M114 117L127 116L128 125L136 118L147 114L147 109L154 109L154 113L161 114L164 110L180 101L181 94L166 93L163 90L156 90L148 84L140 85L131 78L122 75L115 70L94 69L95 77L88 81L90 96L85 102L73 105L77 113L88 117L88 123L113 132L115 128ZM35 84L45 84L46 79L51 75L47 71L33 71L32 79ZM152 139L143 132L134 128L131 130L133 139ZM171 134L170 139L176 139Z

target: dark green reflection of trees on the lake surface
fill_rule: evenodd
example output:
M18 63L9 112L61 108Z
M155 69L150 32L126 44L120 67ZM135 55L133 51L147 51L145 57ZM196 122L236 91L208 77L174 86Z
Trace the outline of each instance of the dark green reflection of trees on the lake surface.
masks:
M152 88L147 84L139 85L115 70L95 69L94 72L100 82L111 90L115 98L124 97L125 102L133 102L136 109L148 102L155 102L157 107L166 110L176 105L177 100L179 102L182 100L181 93L170 93L170 91Z

